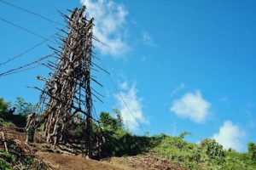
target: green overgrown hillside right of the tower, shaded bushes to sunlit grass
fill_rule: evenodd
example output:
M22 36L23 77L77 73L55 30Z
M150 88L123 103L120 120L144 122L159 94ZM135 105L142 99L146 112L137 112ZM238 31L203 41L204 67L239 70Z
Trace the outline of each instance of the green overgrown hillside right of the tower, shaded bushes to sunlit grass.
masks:
M103 145L102 156L136 156L153 151L157 156L189 169L256 169L256 144L249 143L247 153L224 150L213 139L203 139L201 144L183 140L187 132L179 136L160 134L137 136L122 126L121 119L106 112L100 115L102 129L107 143Z

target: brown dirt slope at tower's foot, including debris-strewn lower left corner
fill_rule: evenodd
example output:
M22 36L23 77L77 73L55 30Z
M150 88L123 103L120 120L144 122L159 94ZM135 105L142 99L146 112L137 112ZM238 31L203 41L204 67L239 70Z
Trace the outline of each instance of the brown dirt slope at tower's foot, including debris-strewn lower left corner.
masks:
M140 170L140 169L174 169L183 170L173 161L160 159L148 154L146 156L111 157L102 161L90 160L82 156L63 154L61 150L50 149L37 133L36 143L24 143L26 135L21 128L10 129L0 126L0 167L3 169L52 169L52 170ZM8 153L5 144L7 145ZM45 147L49 146L49 147Z

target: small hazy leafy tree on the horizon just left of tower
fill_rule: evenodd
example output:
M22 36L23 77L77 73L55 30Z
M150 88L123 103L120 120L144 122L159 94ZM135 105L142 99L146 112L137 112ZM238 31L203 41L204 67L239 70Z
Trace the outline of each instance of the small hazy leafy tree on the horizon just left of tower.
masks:
M26 116L36 111L36 105L26 102L25 99L17 97L15 101L16 113L22 116Z

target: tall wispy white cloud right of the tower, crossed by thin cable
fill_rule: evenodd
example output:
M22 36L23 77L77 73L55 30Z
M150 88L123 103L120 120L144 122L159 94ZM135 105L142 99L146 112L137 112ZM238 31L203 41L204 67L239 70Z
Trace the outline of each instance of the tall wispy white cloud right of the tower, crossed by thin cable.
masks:
M139 127L138 122L148 123L148 119L143 115L143 104L142 100L137 97L136 86L132 85L128 88L127 82L122 83L121 86L124 84L123 92L114 94L114 96L117 99L117 108L121 111L125 126L134 131ZM125 104L131 110L133 116Z

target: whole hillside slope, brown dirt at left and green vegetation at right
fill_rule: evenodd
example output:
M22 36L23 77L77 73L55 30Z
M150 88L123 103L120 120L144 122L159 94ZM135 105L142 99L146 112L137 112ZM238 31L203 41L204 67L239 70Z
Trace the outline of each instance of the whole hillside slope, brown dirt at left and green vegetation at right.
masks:
M24 143L23 128L0 126L0 169L256 169L256 144L248 152L224 150L212 139L201 144L183 140L183 135L136 136L124 130L106 131L105 159L94 161L74 156L73 151L53 150L36 133L35 143ZM110 132L110 133L109 133ZM7 151L8 150L8 151Z

